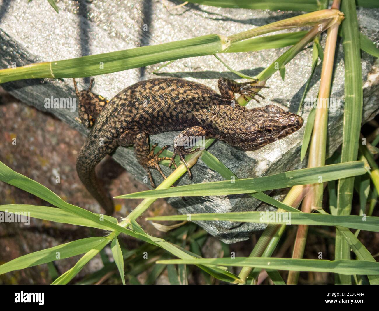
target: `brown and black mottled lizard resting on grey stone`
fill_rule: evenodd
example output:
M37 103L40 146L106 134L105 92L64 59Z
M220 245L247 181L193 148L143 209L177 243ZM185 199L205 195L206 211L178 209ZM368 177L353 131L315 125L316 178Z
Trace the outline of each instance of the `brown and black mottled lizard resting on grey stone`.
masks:
M77 174L89 193L99 202L108 215L113 213L113 201L100 186L95 167L118 146L133 146L139 164L146 170L150 183L155 188L150 169L157 169L166 178L159 162L179 156L186 166L189 178L191 171L185 155L199 150L180 145L180 137L216 138L242 150L257 150L286 137L300 129L303 119L297 114L269 104L247 109L235 104L235 93L245 99L255 98L258 82L238 83L227 78L218 80L220 94L206 85L181 78L155 78L130 85L110 101L88 90L75 93L79 99L77 120L86 128L92 127L76 162ZM93 126L94 125L94 126ZM167 131L182 131L174 139L172 157L159 157L166 145L154 154L150 150L149 135Z

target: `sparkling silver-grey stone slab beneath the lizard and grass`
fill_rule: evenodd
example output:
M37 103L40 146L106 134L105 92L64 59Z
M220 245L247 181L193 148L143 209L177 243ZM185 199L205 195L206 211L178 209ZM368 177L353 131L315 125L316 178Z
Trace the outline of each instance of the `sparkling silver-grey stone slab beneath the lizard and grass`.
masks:
M183 7L172 8L179 2L147 0L93 1L91 3L64 0L57 4L60 8L59 14L53 11L47 1L30 3L21 0L0 1L1 68L167 43L210 33L230 35L300 14L215 8L190 3ZM378 42L379 10L360 9L358 14L362 32ZM323 36L323 42L324 39L325 36ZM225 53L220 56L234 69L244 74L255 75L271 64L286 49ZM311 62L311 49L304 49L286 66L285 81L282 81L279 73L274 74L267 83L271 89L264 90L262 93L267 99L263 100L261 104L251 102L247 107L276 104L291 112L296 112L305 83L310 75ZM152 72L160 65L97 76L93 91L112 98L128 85L143 79L157 77ZM369 120L379 111L378 68L377 65L374 65L374 58L365 52L362 52L362 67L363 79L366 81L364 84L363 120ZM308 96L317 96L320 71L321 66L318 66ZM215 90L217 90L219 77L238 80L238 77L227 71L214 56L177 60L161 69L160 76L183 77L208 85ZM80 87L88 87L89 78L84 81L79 79L79 82ZM343 52L341 42L339 42L335 58L332 95L330 96L336 101L336 109L331 110L329 114L329 155L338 148L342 139L343 82ZM9 82L2 86L16 98L42 111L46 111L44 108L45 98L51 96L74 98L75 96L72 79L30 79ZM305 120L309 111L310 109L305 108L302 113ZM74 118L77 116L76 111L50 109L48 112L55 114L78 132L88 133L83 126L74 122ZM304 167L307 163L307 159L300 163L299 157L304 128L283 140L253 152L243 152L220 141L213 144L209 150L240 178L296 169ZM158 142L161 146L172 144L177 134L170 132L152 136L150 142ZM137 180L143 181L144 170L137 163L132 149L120 147L113 157L128 172L135 175ZM165 174L170 172L167 167L163 167L163 171ZM183 176L180 179L180 185L222 180L218 173L208 169L201 161L193 167L192 172L193 180L189 181L187 176ZM161 180L158 172L153 172L153 178L157 182ZM275 191L273 194L275 197L280 197L279 191ZM265 204L260 204L258 200L246 195L191 197L186 202L173 198L168 202L178 208L180 213L236 212L268 208ZM273 207L269 208L273 209ZM249 234L264 228L263 224L254 223L214 221L199 224L210 234L226 243L246 240Z

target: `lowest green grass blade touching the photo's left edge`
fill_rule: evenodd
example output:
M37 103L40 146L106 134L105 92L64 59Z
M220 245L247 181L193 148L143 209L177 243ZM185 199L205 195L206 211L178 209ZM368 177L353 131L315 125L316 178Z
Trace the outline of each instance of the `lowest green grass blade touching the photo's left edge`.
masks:
M99 243L106 241L109 242L108 238L106 237L91 237L57 245L47 249L42 249L41 251L20 256L16 259L6 262L5 264L2 264L0 266L0 274L45 264L54 260L60 260L80 255L96 247L99 245Z

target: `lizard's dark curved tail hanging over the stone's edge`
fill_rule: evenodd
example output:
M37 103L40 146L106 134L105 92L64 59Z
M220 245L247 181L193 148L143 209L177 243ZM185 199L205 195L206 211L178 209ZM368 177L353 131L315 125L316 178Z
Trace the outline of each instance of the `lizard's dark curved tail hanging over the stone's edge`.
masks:
M106 141L101 141L96 135L89 135L76 160L76 170L81 182L85 185L89 193L99 202L105 210L106 215L112 215L114 212L113 200L109 193L100 186L96 177L95 167L117 146Z

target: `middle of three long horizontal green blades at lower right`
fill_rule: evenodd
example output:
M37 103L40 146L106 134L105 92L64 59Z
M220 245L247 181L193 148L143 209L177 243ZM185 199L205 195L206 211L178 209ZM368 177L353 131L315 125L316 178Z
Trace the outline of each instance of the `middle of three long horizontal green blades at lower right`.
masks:
M272 217L272 218L271 218ZM238 221L248 223L276 223L276 224L302 224L313 226L343 226L352 229L362 229L379 232L379 217L366 217L356 215L337 216L321 215L316 213L288 213L288 212L231 212L231 213L203 213L186 215L166 215L149 217L155 221Z

